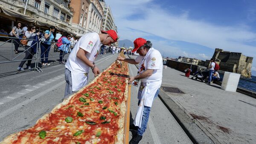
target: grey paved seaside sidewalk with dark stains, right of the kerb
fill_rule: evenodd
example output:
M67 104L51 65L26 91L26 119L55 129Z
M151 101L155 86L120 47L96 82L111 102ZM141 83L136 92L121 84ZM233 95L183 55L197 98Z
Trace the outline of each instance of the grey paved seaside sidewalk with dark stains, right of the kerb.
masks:
M165 93L215 143L256 143L256 99L189 79L169 67L163 69L162 86L183 92Z

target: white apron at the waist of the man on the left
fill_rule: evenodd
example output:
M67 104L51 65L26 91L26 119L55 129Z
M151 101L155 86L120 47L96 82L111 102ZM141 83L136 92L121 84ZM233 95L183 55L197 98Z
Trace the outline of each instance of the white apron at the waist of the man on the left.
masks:
M72 91L80 90L88 82L88 73L73 73L71 72L72 78Z

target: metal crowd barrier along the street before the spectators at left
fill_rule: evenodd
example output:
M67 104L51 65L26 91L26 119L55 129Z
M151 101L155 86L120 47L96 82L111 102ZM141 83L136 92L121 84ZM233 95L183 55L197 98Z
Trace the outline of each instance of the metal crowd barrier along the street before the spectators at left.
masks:
M18 39L18 41L20 41L20 40L32 40L32 39L23 39L23 38L17 38L17 37L4 37L4 36L0 36L0 38L9 39L9 40L7 40L6 42L3 42L3 43L0 44L0 51L1 51L1 50L6 50L6 48L1 48L1 47L2 47L4 44L8 44L9 42L11 42L11 43L9 43L9 46L7 47L7 50L10 50L10 51L11 51L10 58L7 58L7 56L4 56L4 53L3 53L3 52L0 52L0 57L1 57L1 59L4 59L4 60L2 60L2 61L1 61L1 59L0 59L0 64L1 64L1 63L9 63L9 62L20 62L20 61L23 61L23 58L24 58L24 57L22 57L22 59L18 59L18 58L20 58L23 53L26 53L26 51L28 51L29 48L32 48L33 46L36 45L36 53L35 53L34 55L32 54L32 55L33 55L33 58L32 58L32 59L25 59L25 60L26 60L26 61L27 61L27 60L35 60L35 67L32 68L31 71L32 71L32 70L36 70L36 71L38 71L38 72L42 72L42 69L41 69L41 68L39 67L39 65L38 65L39 62L40 62L39 59L41 59L41 55L45 54L45 52L46 52L47 50L50 51L50 49L53 49L53 48L56 46L56 43L62 43L62 42L50 42L50 43L51 43L51 46L50 46L49 48L45 49L45 52L44 52L44 53L41 53L41 46L43 46L43 45L42 45L42 42L44 42L44 41L35 42L35 43L34 43L33 45L31 45L28 49L26 49L25 46L23 46L22 44L19 43L19 47L18 47L18 48L22 47L22 48L24 49L24 51L21 52L21 53L19 53L17 56L14 56L14 53L13 53L13 51L15 50L15 49L14 49L14 43L15 43L15 42L17 43L17 41L16 41L17 39ZM36 41L36 40L33 40L33 41ZM64 43L62 43L62 44L64 44ZM11 48L9 48L10 45L11 45ZM66 48L66 47L67 47L67 45L64 44L64 48ZM65 50L65 49L64 49L64 50ZM52 51L53 51L53 50L52 50ZM54 56L54 54L52 54L52 53L49 52L48 57L44 57L44 59L45 59L45 58L49 59L49 58L55 58L55 57L62 56L62 61L61 61L61 62L65 64L65 58L67 58L67 56L69 55L69 52L70 52L70 51L71 51L71 48L69 47L67 54L65 54L65 52L63 52L62 55L58 55L58 56ZM31 54L31 53L30 53L30 54Z

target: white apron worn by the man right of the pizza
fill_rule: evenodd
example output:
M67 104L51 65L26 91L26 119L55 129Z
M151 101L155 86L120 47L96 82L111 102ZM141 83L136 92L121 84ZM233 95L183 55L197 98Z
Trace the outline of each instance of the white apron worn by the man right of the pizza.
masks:
M152 48L153 49L153 48ZM140 67L138 72L140 73L140 68L143 63L145 63L145 60L151 53L152 49L150 48L146 56L143 58L142 62L140 63ZM142 122L142 116L143 116L143 109L144 105L151 107L153 100L154 100L154 95L157 92L157 90L160 88L162 81L157 81L157 82L145 82L141 83L141 85L144 85L144 88L140 94L140 91L138 93L138 99L140 100L140 105L137 109L136 116L134 118L134 125L141 127L141 122Z

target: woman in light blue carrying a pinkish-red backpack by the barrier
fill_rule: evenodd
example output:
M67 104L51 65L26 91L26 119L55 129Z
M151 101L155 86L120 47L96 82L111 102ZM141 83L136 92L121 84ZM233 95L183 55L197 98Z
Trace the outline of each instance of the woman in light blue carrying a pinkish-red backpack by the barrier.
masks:
M68 52L68 46L70 45L70 41L67 39L67 37L68 37L68 33L67 31L65 31L62 37L58 40L58 42L61 42L61 43L57 43L58 49L60 50L60 64L64 64L62 62L62 59L64 56L63 54L66 54Z

